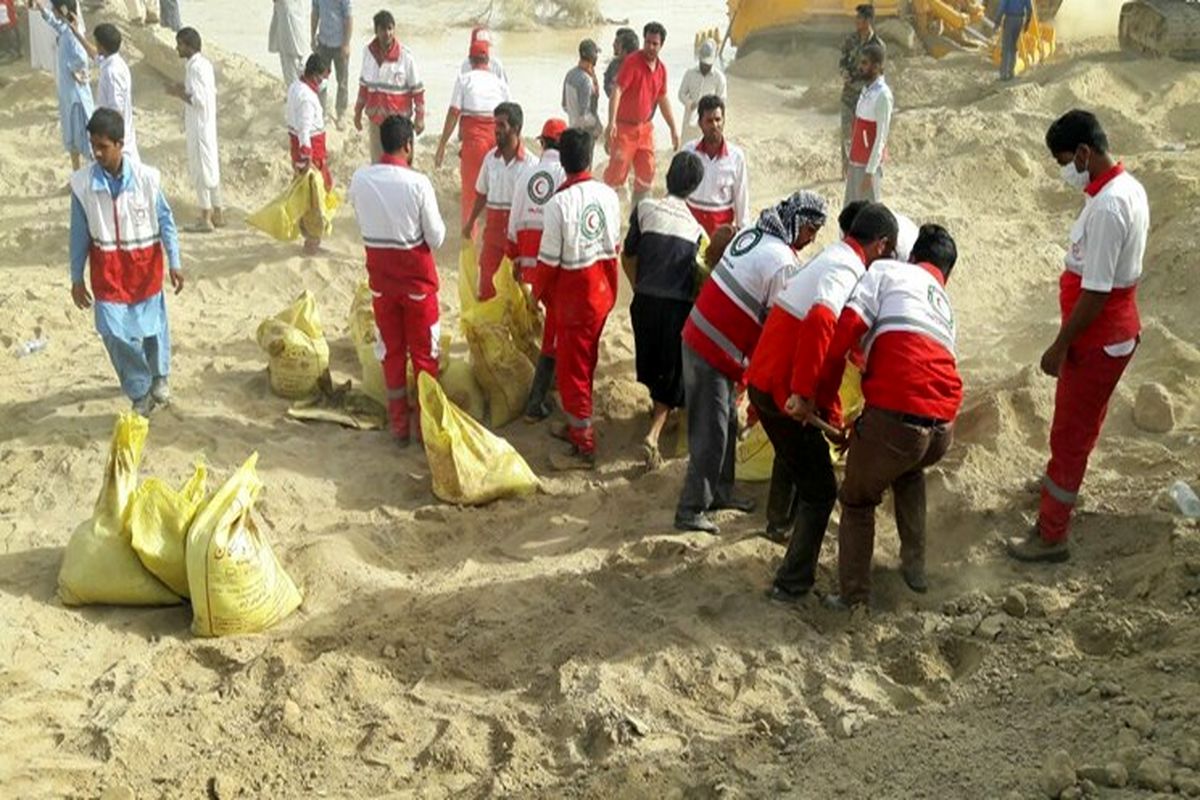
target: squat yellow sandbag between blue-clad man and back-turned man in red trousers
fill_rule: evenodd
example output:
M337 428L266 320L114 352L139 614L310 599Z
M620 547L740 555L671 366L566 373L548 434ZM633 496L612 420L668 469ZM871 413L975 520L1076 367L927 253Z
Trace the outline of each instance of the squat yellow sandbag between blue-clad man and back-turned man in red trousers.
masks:
M329 343L320 327L317 300L307 289L295 302L258 326L266 353L271 391L289 399L311 397L329 372Z

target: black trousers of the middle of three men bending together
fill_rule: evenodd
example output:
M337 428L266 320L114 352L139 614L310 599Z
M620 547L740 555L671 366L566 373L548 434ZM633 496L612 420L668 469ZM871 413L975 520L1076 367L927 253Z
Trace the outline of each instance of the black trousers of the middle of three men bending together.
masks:
M750 387L750 402L796 488L796 528L787 554L775 573L775 585L792 593L808 591L816 581L821 543L838 498L829 445L822 433L781 411L770 395Z

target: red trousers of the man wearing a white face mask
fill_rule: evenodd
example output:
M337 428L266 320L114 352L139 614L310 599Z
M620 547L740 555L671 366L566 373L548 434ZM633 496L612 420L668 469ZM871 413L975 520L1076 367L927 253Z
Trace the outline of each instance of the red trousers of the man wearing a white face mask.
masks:
M1100 437L1109 398L1133 354L1114 357L1104 348L1072 348L1058 371L1050 426L1050 463L1042 479L1038 529L1046 542L1067 539L1070 513Z

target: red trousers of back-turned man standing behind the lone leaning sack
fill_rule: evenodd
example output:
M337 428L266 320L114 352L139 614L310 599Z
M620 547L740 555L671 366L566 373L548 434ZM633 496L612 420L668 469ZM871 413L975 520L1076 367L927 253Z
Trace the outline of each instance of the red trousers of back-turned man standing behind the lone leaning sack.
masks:
M418 417L416 435L421 435L420 403L408 397L408 361L413 375L422 372L438 377L438 295L420 299L408 295L376 296L372 301L376 327L383 341L383 378L388 385L388 417L391 432L401 439L412 433L409 415Z

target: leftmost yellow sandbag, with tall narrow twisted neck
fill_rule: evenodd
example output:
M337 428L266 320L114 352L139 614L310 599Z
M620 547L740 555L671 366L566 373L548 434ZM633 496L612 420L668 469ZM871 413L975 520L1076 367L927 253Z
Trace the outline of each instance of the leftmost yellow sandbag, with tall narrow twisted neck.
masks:
M158 582L130 545L130 498L150 423L127 411L113 427L104 480L91 519L71 535L59 570L59 597L67 606L173 606L178 595Z

